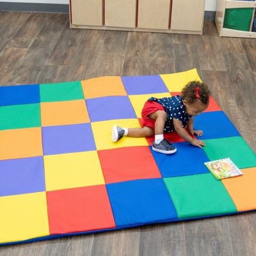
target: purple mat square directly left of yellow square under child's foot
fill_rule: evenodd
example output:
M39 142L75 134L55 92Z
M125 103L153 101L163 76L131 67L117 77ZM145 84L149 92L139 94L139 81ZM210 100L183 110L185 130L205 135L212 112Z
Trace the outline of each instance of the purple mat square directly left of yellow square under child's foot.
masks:
M44 155L96 150L91 124L42 127Z

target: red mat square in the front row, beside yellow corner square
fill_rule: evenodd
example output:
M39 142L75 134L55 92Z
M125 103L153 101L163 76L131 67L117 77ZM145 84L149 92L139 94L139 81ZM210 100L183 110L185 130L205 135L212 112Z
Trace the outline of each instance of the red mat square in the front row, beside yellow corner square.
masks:
M114 228L105 185L47 192L50 234Z

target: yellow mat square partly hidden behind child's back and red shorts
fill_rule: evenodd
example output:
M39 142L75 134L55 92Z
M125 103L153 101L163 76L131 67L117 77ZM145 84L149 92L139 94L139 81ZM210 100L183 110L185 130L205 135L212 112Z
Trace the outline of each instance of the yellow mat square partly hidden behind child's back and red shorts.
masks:
M144 107L145 102L150 98L164 98L164 97L171 97L170 93L153 93L153 94L143 94L143 95L129 95L129 99L131 100L132 107L136 113L138 118L141 118L141 110Z

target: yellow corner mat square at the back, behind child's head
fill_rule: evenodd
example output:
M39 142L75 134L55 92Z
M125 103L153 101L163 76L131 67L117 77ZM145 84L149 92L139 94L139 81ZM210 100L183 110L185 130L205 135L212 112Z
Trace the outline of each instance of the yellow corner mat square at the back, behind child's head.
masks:
M190 81L201 81L196 68L175 74L160 75L169 92L181 92L182 88Z

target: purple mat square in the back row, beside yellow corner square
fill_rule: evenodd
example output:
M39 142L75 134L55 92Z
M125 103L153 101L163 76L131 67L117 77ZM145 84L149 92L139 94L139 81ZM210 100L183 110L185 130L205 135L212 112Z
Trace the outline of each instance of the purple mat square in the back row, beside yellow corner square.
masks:
M122 81L128 95L169 92L159 75L123 76Z

